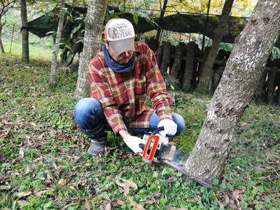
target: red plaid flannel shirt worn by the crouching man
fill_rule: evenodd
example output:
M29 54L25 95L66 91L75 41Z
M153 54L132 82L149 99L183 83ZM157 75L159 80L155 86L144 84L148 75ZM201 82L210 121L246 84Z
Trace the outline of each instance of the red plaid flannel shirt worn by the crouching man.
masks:
M88 66L92 97L101 102L113 132L129 127L150 127L153 109L145 106L148 95L162 119L172 120L170 97L153 51L146 43L135 42L135 64L129 73L115 73L99 52Z

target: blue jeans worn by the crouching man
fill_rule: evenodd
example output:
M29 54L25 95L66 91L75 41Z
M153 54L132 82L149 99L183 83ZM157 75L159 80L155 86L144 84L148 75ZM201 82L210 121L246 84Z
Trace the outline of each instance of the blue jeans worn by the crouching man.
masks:
M112 131L109 123L104 116L102 104L99 100L94 98L83 98L76 104L74 108L74 118L78 127L89 137L90 139L100 139L106 137L106 130ZM182 116L176 113L172 113L172 118L177 124L177 132L175 136L181 134L185 128L185 120ZM125 122L126 123L126 122ZM137 134L144 131L150 131L158 127L158 115L153 113L150 119L150 127L147 128L135 128L128 127L128 132Z

